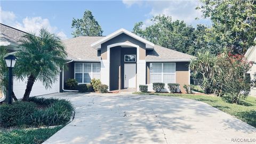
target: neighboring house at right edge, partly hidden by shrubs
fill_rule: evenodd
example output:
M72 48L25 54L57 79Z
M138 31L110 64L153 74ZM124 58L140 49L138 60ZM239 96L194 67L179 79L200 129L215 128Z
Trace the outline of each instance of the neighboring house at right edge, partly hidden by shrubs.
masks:
M256 46L250 47L250 49L245 53L244 57L249 61L254 61L254 64L248 73L250 74L251 79L256 79ZM251 89L251 95L256 96L256 87Z

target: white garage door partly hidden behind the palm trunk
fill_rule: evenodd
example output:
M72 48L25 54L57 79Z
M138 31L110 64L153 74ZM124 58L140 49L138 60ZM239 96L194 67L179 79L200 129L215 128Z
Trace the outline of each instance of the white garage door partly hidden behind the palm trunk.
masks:
M44 94L50 94L50 93L57 93L60 92L60 81L59 81L59 75L57 76L58 80L52 84L51 89L45 89L44 85L40 81L36 81L32 87L32 91L30 93L30 96L38 96L38 95L44 95ZM13 79L13 92L16 95L17 99L21 99L23 97L23 94L25 93L27 86L27 79L25 81Z

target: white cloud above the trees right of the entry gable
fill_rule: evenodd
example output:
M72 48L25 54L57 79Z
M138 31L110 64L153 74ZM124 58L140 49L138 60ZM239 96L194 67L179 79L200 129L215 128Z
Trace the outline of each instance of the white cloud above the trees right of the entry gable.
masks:
M123 3L127 6L132 6L137 3L138 1L123 1ZM165 14L172 17L173 20L183 20L188 25L196 25L198 23L204 23L210 25L209 20L195 20L195 18L201 18L202 12L199 10L195 10L195 8L200 5L199 1L139 1L143 2L140 5L146 5L151 7L151 11L146 15L147 17L151 18L153 16L159 14ZM149 23L150 19L145 20L145 25Z

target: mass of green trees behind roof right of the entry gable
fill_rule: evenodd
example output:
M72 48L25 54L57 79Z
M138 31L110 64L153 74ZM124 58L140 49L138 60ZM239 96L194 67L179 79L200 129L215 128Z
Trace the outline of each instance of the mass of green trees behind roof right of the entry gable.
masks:
M209 38L214 34L204 25L193 28L183 21L172 21L166 15L157 15L151 22L153 25L145 29L142 28L143 22L135 23L133 33L157 45L191 55L198 51L217 54L223 47L218 41Z

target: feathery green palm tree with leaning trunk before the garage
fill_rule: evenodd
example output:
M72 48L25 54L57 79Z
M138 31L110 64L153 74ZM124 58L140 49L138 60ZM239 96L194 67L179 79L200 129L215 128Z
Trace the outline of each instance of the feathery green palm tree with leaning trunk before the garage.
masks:
M35 81L41 81L46 89L51 88L60 67L65 65L67 53L61 39L44 28L39 31L39 36L25 34L20 42L21 51L16 54L18 60L14 71L18 78L27 78L22 100L28 101Z

